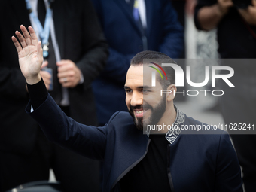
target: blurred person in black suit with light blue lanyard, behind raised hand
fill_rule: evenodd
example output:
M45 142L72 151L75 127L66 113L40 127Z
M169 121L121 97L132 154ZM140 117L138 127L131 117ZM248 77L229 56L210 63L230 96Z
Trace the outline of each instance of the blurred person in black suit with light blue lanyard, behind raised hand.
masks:
M48 142L24 111L29 95L11 41L20 23L34 26L44 49L41 76L66 114L96 125L91 82L108 56L90 0L11 0L0 8L0 191L48 180L52 168L64 191L99 191L99 162ZM5 26L5 29L3 28ZM51 72L51 73L50 73Z

